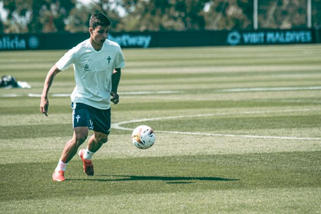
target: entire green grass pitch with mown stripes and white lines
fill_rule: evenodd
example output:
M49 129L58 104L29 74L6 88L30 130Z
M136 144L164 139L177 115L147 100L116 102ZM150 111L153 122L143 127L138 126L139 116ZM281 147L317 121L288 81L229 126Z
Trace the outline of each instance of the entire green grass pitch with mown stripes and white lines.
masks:
M0 52L0 76L32 86L0 89L0 213L321 213L321 45L125 49L95 176L75 156L53 182L72 67L49 117L39 95L64 53ZM138 125L156 132L147 150L131 143Z

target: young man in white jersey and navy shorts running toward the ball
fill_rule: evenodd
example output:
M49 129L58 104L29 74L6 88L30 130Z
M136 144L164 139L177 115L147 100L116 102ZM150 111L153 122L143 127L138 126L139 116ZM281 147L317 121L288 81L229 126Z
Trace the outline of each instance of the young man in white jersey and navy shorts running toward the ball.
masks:
M89 20L90 38L68 51L49 70L40 101L40 112L46 116L49 106L48 91L54 76L73 64L76 87L71 94L73 136L65 145L53 180L64 181L67 163L77 153L78 147L93 130L86 149L79 151L84 172L93 176L93 154L107 142L110 131L110 101L119 102L117 88L125 60L120 46L107 39L109 19L101 13Z

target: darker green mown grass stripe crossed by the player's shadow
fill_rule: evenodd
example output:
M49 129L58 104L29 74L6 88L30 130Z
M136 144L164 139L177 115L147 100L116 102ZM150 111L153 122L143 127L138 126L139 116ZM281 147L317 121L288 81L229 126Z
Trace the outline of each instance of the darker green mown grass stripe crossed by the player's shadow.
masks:
M50 179L55 162L0 164L1 186L10 182L14 189L4 189L1 201L40 199L77 194L79 185L87 194L118 195L134 193L173 193L205 190L257 188L318 188L321 152L290 152L245 155L169 156L96 160L94 177L86 177L80 160L72 161L65 183ZM132 167L132 163L136 167ZM249 167L251 164L251 167ZM37 168L37 177L34 171ZM182 167L185 169L181 171ZM9 173L10 172L10 173ZM33 177L34 182L28 182ZM187 185L167 185L169 181L189 181ZM28 194L24 194L25 192ZM73 195L73 194L72 194Z

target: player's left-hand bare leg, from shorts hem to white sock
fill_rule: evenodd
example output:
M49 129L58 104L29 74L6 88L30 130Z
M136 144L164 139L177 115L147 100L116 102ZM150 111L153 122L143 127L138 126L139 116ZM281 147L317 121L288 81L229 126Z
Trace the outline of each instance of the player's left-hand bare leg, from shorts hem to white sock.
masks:
M69 140L64 150L62 151L60 160L68 163L72 157L77 153L78 147L84 143L88 136L88 127L75 127L73 129L72 139Z

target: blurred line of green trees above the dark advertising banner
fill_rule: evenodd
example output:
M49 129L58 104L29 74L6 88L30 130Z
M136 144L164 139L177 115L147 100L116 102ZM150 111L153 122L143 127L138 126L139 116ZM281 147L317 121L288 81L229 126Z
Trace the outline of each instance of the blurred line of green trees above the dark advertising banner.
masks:
M258 0L259 27L306 27L306 0ZM0 33L87 32L102 12L112 31L253 29L253 0L1 0ZM262 4L263 2L263 4ZM313 26L321 24L321 0L312 0Z

